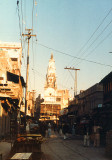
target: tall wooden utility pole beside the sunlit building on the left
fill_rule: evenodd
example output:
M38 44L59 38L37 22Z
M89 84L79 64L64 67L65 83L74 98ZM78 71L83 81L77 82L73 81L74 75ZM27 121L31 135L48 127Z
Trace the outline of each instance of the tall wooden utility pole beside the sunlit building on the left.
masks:
M27 39L28 39L28 52L27 52L27 70L26 70L26 92L25 92L25 120L26 120L26 113L27 113L27 101L28 101L28 74L29 74L29 41L30 41L30 38L32 36L35 36L36 35L32 35L31 34L31 30L32 29L26 29L26 31L28 32L27 34L22 34L22 36L26 36ZM26 126L25 126L26 128Z

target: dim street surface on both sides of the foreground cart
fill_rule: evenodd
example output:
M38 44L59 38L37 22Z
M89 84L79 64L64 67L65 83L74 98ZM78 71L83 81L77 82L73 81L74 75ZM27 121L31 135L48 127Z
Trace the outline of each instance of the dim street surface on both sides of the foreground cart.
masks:
M11 144L0 142L0 149L3 153L2 160L7 158ZM33 154L33 160L110 160L105 155L105 148L83 146L83 139L80 136L68 135L66 140L63 135L52 132L50 138L45 138L41 145L42 153ZM9 157L9 156L8 156Z

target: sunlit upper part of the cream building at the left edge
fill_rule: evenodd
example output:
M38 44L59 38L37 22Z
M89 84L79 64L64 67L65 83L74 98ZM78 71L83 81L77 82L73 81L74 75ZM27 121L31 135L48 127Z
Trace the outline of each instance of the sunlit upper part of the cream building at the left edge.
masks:
M13 99L21 99L23 94L21 56L20 43L0 43L0 93Z

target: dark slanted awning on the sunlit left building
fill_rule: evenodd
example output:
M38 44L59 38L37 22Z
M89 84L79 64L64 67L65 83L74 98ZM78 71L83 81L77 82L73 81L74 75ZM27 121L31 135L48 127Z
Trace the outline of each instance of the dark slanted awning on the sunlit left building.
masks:
M19 83L19 76L17 74L7 71L7 80L12 81L14 83ZM22 76L20 76L20 80L21 80L22 86L25 87L25 81Z

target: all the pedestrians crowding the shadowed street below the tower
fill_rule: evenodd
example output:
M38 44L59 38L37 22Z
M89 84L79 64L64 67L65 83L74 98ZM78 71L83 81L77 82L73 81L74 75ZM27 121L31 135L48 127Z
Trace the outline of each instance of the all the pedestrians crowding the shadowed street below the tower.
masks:
M30 130L30 124L32 122L29 122L29 132ZM28 126L27 125L27 126ZM28 130L28 129L27 129ZM54 130L54 132L57 132L59 135L63 135L64 140L67 139L67 134L70 133L73 136L76 135L76 124L74 123L72 126L70 126L67 122L63 124L56 124L56 123L50 123L46 121L39 121L38 125L33 128L34 133L39 133L43 137L51 137L51 130ZM84 125L83 128L83 136L84 136L84 141L83 145L84 146L90 146L91 142L93 143L94 147L99 147L100 146L100 130L101 127L99 125L94 125L92 128L92 131L90 130L89 125ZM92 138L91 138L92 137Z

